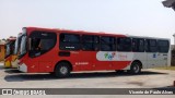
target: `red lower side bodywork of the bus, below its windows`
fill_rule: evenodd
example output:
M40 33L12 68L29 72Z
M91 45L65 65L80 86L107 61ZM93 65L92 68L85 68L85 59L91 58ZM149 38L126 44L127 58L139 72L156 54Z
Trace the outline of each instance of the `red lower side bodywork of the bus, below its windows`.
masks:
M73 52L73 53L72 53ZM77 52L77 53L74 53ZM69 61L72 64L72 71L98 71L98 70L120 70L130 64L131 61L98 61L96 59L96 53L94 52L88 56L81 57L82 53L78 51L71 51L71 57L58 57L57 53L46 53L39 58L31 59L25 58L22 62L25 62L27 65L27 72L34 73L44 73L44 72L54 72L55 65L60 61ZM85 53L85 52L83 52ZM49 57L48 57L49 56ZM86 59L85 59L86 58ZM89 59L88 59L89 58Z

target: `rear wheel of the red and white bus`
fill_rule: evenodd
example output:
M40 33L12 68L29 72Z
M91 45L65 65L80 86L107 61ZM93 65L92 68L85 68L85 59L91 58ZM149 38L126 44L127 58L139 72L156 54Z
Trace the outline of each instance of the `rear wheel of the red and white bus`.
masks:
M132 62L129 72L131 74L139 74L141 72L141 63L140 62Z

